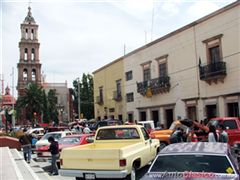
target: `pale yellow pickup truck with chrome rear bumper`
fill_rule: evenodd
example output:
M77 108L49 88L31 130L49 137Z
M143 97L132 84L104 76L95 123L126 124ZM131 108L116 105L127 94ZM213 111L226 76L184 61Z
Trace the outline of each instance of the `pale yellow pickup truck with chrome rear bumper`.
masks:
M94 143L62 151L59 173L79 179L136 179L136 170L151 162L159 140L151 139L140 125L99 128Z

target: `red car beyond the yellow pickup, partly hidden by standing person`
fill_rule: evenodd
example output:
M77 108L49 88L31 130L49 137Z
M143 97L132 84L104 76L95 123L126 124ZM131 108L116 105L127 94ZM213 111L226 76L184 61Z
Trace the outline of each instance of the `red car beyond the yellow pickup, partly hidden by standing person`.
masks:
M66 147L79 146L87 144L87 138L94 137L94 134L77 134L65 136L58 140L59 151ZM49 146L43 146L37 149L38 160L48 160L51 159L51 153L49 152Z

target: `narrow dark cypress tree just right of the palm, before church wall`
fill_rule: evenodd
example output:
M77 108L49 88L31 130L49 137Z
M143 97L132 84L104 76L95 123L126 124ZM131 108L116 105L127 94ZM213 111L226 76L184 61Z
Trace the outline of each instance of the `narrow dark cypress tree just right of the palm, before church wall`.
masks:
M57 96L56 96L56 89L50 89L48 92L48 103L49 103L49 116L50 119L55 123L59 123L58 119L58 111L57 111Z

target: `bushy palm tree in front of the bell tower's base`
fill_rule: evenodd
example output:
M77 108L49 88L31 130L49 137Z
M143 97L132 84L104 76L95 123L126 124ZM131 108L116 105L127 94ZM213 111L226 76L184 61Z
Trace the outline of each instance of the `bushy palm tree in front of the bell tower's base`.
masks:
M26 118L29 119L32 124L36 123L35 118L41 116L42 104L43 104L43 91L42 87L39 87L35 83L29 84L26 88L23 96L20 96L17 100L17 111L24 109ZM36 117L34 117L36 113Z

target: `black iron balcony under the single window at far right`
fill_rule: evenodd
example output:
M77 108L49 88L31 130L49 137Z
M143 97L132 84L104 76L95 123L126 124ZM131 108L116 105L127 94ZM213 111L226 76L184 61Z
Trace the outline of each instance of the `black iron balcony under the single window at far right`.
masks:
M217 83L218 80L223 81L227 75L226 62L219 61L207 65L199 66L200 79L211 84L211 82Z

